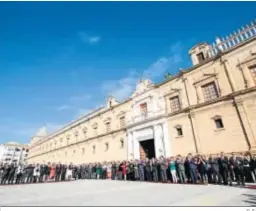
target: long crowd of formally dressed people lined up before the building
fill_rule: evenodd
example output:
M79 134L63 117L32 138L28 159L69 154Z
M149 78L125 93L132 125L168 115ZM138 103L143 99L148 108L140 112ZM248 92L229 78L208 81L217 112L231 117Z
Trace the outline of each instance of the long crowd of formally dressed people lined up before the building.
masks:
M250 153L122 162L65 164L1 164L1 184L43 183L77 179L110 179L162 183L244 185L255 182L256 157Z

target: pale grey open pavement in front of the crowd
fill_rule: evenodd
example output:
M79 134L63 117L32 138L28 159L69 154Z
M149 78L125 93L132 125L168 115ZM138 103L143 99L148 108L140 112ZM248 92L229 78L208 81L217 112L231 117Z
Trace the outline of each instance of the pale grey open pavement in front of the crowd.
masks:
M79 180L0 186L0 206L255 206L255 189Z

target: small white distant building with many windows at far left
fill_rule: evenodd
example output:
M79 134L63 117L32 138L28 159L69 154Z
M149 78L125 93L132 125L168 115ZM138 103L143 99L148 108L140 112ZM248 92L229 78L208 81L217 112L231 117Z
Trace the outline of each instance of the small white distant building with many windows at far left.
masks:
M0 145L0 163L25 164L28 157L29 146L16 142L8 142Z

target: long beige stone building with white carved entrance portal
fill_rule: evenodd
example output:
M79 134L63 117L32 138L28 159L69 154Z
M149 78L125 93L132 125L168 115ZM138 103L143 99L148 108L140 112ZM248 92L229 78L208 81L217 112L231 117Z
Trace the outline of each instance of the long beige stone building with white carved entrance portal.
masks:
M88 163L256 150L256 22L189 54L192 67L142 80L125 102L31 140L28 161Z

